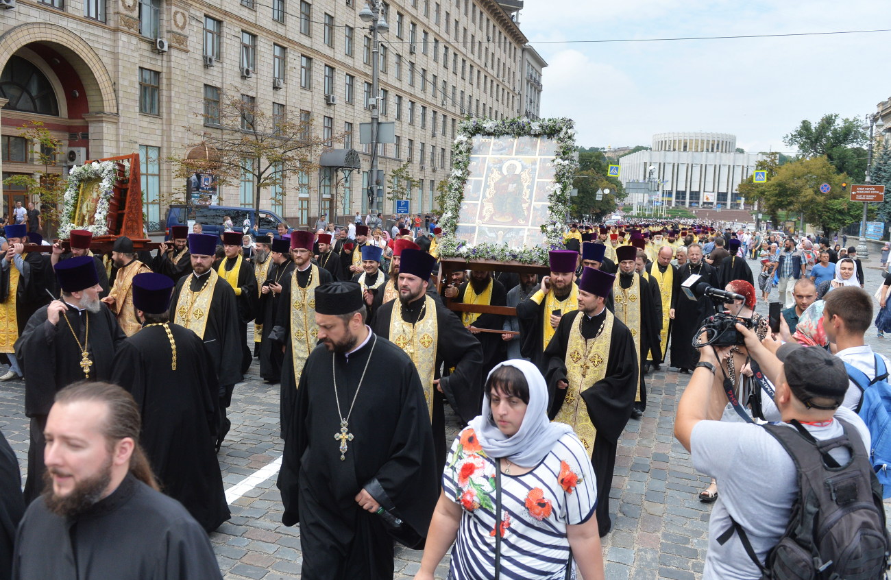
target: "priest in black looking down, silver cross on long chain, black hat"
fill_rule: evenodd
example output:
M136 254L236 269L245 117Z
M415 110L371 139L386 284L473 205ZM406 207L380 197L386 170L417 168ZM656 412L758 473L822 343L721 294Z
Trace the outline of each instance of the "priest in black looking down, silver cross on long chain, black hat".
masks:
M420 546L440 493L421 379L365 324L356 282L316 288L315 311L322 344L285 432L282 523L300 524L304 580L391 580L394 538Z

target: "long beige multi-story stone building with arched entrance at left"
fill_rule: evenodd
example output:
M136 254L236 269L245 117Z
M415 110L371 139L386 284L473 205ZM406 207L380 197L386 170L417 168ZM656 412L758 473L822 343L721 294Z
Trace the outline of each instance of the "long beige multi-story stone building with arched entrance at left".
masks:
M74 163L138 151L150 222L163 224L184 195L169 159L212 134L212 112L241 95L269 115L310 119L317 135L343 135L361 169L331 195L319 175L289 176L283 196L260 206L307 225L320 213L368 211L372 35L363 0L4 0L0 9L0 127L4 176L42 170L19 127L45 123ZM9 7L12 6L12 7ZM384 175L405 161L421 186L411 211L434 209L457 123L505 118L526 107L527 39L495 0L394 0L382 5L380 121L396 143L380 145ZM540 60L540 57L539 57ZM211 114L208 115L208 111ZM537 114L537 110L535 111ZM53 170L64 171L61 160ZM219 188L218 202L253 205L254 187ZM4 206L27 192L4 186ZM339 207L331 207L339 199ZM275 200L279 202L276 203ZM385 201L391 213L395 203Z

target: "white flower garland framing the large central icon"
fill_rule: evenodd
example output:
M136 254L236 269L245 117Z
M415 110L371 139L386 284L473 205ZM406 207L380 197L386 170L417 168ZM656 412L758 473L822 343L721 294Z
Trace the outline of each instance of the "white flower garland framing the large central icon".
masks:
M470 151L473 137L476 135L544 136L557 142L557 153L554 156L555 183L552 191L548 193L548 223L541 225L547 241L546 247L515 249L507 243L468 244L454 237L458 227L461 202L464 199L464 184L470 176ZM443 215L438 223L443 229L443 239L438 246L440 256L546 265L549 250L566 249L561 225L568 212L569 191L572 189L572 178L576 174L575 137L573 121L569 118L543 118L536 121L525 117L503 120L473 118L462 121L452 144L454 162L448 177Z

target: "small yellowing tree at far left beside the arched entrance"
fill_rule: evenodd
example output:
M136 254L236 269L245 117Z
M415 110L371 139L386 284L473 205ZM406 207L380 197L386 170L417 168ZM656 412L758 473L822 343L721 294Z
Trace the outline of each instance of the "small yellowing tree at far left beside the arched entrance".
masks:
M56 165L61 152L61 140L53 137L43 121L28 121L19 128L19 135L34 147L34 157L37 163L44 166L44 170L37 174L14 175L4 179L3 183L25 187L29 195L37 195L44 218L55 221L59 217L66 182L60 172L51 171L50 167Z

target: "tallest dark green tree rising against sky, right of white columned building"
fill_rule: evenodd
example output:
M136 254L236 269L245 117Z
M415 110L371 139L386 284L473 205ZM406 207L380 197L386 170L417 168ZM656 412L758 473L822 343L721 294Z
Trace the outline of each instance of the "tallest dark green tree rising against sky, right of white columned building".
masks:
M783 137L783 143L797 147L805 159L825 156L838 173L859 178L866 171L866 150L869 136L855 118L842 118L837 113L823 115L816 124L805 119L795 131Z

